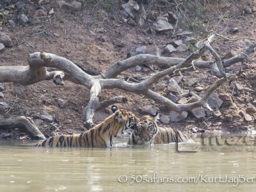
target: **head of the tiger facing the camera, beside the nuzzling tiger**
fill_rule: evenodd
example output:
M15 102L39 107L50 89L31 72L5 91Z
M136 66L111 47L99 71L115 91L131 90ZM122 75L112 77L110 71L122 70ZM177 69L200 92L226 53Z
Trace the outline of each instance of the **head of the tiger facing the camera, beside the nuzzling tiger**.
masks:
M158 113L156 115L147 115L140 118L132 126L134 131L132 132L128 145L149 145L154 143L154 138L158 132L157 119L159 118Z

